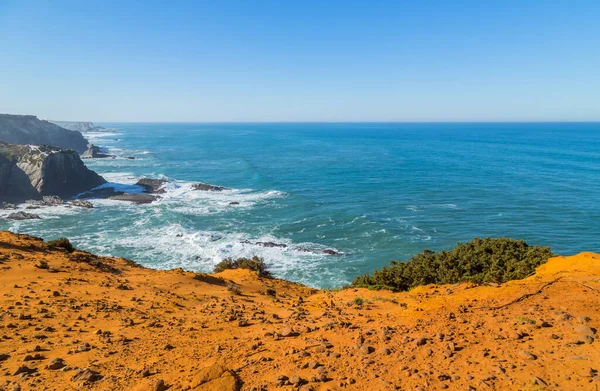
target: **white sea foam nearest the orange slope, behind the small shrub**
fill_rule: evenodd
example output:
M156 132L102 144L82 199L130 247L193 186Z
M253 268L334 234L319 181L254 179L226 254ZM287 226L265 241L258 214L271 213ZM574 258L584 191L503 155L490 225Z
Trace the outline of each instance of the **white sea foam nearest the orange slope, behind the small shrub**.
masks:
M143 229L144 224L141 222L118 232L101 232L93 238L78 237L76 241L105 255L113 253L115 247L125 248L137 261L154 268L183 267L203 272L212 271L225 258L258 256L275 275L284 276L297 269L310 275L321 261L332 257L321 253L327 248L323 245L310 242L294 244L289 239L268 234L195 231L181 224ZM98 235L101 237L98 238ZM285 244L286 247L265 247L257 242ZM310 283L311 280L307 278L303 282Z

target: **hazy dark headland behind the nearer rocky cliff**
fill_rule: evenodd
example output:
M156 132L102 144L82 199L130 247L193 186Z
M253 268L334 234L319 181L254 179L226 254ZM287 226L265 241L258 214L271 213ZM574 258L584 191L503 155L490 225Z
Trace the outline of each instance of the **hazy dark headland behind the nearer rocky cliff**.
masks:
M0 140L15 144L53 145L83 153L88 142L80 132L67 130L33 115L0 114Z

